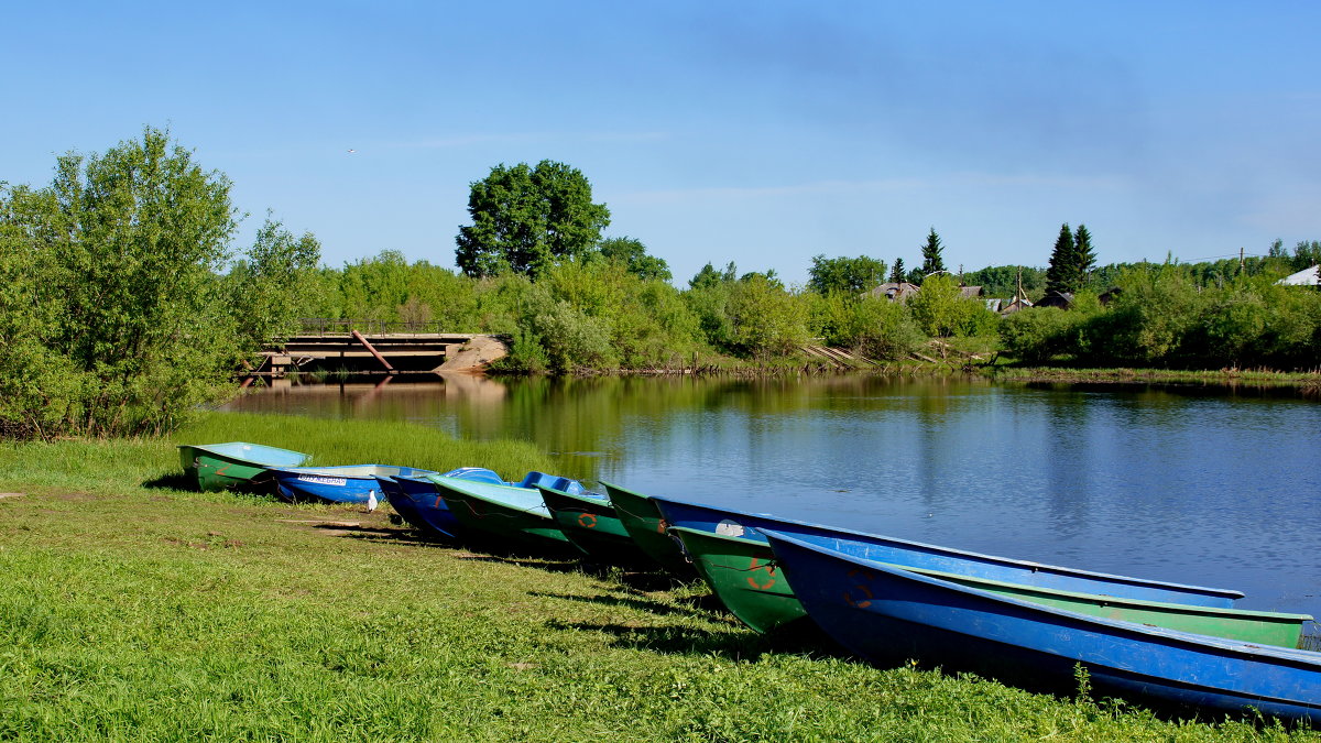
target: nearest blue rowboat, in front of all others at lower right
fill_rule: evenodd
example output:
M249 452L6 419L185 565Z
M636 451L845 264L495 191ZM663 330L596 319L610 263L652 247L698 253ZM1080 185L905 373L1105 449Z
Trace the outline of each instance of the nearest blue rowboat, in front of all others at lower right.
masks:
M1086 616L762 533L807 615L868 661L1055 685L1081 665L1125 697L1321 723L1321 653Z

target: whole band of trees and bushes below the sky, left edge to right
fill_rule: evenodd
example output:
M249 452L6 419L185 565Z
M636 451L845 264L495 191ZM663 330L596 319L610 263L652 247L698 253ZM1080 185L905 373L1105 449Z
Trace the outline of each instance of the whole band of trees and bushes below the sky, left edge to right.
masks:
M1275 284L1321 256L1316 242L1292 253L1277 242L1242 264L1083 267L1073 309L1001 317L962 284L1009 299L1021 280L1036 299L1048 271L955 275L934 229L913 271L818 255L804 287L729 263L679 288L641 241L602 235L609 210L567 165L499 165L472 186L473 223L460 227L461 271L450 271L390 250L326 267L312 234L272 217L235 251L230 181L149 127L104 155L59 157L48 186L0 182L0 435L173 428L231 394L235 373L309 317L503 334L513 353L499 369L527 373L798 365L818 342L896 360L931 337L976 337L970 345L1033 364L1297 369L1321 358L1321 292ZM873 291L886 279L921 290L892 300Z

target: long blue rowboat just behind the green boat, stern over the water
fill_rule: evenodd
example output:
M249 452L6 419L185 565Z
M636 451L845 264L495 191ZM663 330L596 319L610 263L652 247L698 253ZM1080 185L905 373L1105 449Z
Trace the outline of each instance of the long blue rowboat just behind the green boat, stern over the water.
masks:
M1108 575L791 521L765 513L744 513L657 496L651 496L651 500L660 509L667 526L682 526L758 541L766 539L761 531L771 529L828 550L904 567L956 572L970 578L1034 586L1053 591L1099 594L1199 607L1230 608L1235 599L1243 598L1240 591L1227 588L1206 588L1125 575Z

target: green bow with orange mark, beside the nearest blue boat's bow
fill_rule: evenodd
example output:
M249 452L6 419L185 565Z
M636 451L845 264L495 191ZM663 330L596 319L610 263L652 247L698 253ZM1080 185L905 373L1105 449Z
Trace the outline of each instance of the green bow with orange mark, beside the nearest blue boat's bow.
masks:
M729 613L748 627L766 633L807 616L766 543L678 526L670 534Z

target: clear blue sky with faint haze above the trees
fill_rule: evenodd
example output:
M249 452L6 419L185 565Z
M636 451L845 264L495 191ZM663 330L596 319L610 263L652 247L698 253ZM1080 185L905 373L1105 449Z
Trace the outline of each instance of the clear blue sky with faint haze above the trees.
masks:
M197 5L197 7L193 7ZM453 266L497 163L584 172L708 260L1044 266L1321 239L1317 3L36 3L0 25L0 180L169 127L338 266ZM350 153L349 149L355 152Z

